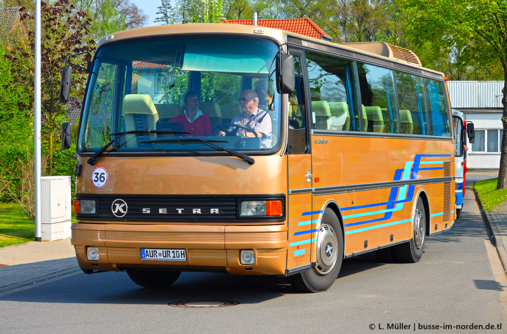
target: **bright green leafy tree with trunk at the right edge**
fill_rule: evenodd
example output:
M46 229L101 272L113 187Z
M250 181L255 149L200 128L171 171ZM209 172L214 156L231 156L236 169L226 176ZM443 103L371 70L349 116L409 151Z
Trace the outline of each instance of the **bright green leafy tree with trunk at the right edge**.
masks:
M503 137L497 189L507 188L507 2L489 0L402 0L408 33L420 40L466 46L469 54L494 56L503 69ZM488 47L485 47L487 45Z

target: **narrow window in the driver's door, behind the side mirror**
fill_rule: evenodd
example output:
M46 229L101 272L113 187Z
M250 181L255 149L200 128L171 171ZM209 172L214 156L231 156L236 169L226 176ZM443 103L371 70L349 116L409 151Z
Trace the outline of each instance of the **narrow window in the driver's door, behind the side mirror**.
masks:
M308 146L308 127L306 121L305 90L299 57L294 57L296 72L295 90L288 96L288 145L289 154L306 153Z

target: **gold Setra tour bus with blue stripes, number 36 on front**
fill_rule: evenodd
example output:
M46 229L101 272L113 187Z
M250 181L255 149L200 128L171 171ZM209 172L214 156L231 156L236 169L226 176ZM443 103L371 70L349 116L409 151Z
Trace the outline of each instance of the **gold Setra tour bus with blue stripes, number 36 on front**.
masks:
M410 50L176 24L107 35L87 66L75 56L60 101L71 69L87 70L69 155L87 274L144 287L184 271L278 275L316 292L343 258L418 262L454 222L444 76Z

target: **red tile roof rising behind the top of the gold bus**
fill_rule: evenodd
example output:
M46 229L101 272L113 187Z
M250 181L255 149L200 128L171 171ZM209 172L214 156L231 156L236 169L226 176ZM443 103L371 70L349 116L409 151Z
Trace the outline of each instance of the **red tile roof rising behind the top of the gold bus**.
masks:
M253 20L223 20L222 23L253 25ZM257 25L260 25L262 27L278 28L292 31L319 40L322 39L322 35L329 38L330 40L332 39L330 35L325 33L324 30L320 29L318 25L313 23L313 21L307 17L302 19L257 20Z

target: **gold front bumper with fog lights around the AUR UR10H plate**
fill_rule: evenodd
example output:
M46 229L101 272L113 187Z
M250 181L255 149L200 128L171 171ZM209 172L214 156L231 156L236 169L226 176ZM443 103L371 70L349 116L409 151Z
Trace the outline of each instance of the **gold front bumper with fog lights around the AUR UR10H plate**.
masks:
M81 269L120 271L146 268L226 271L240 275L283 275L287 258L285 225L127 225L72 226L71 244ZM99 261L88 261L86 247L97 246ZM141 260L140 248L186 249L187 261ZM241 265L241 249L253 249L255 265Z

